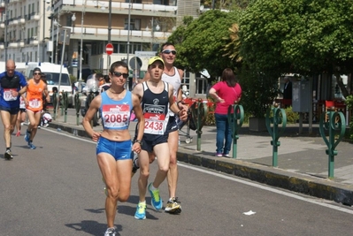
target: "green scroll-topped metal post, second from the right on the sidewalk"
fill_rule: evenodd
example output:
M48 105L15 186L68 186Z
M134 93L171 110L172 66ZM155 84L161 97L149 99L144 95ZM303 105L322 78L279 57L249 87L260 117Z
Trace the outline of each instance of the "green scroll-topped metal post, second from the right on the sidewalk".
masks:
M268 133L272 137L272 166L278 166L278 147L280 147L280 136L283 134L287 126L287 115L284 109L278 108L278 104L275 103L272 109L266 111L266 127ZM270 117L270 111L272 110L273 117ZM271 124L273 124L271 128ZM279 129L279 125L282 125Z

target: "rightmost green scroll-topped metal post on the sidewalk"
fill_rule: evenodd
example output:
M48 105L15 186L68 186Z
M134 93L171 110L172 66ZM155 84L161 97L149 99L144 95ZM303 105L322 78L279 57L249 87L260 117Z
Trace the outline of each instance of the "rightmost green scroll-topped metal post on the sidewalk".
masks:
M328 116L327 121L325 121L326 116ZM326 155L328 155L328 178L334 178L334 156L337 155L338 143L346 132L346 119L341 111L335 111L334 107L328 109L327 112L323 113L320 117L319 131L320 135L325 141L327 148ZM328 140L326 137L325 130L328 131ZM337 139L335 139L336 134L339 133Z

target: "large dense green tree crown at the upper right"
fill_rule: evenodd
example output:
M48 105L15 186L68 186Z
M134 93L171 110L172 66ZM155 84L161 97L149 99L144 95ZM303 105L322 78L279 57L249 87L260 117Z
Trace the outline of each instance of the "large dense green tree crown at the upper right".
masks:
M241 55L257 72L336 75L353 66L352 0L257 0L240 19Z

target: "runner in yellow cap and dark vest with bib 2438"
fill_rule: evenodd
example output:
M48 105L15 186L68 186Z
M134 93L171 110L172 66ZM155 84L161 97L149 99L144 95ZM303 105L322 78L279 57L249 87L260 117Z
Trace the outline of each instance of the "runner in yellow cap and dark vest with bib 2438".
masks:
M151 205L154 209L162 209L163 202L158 187L165 180L169 171L170 150L168 145L167 126L169 121L169 110L178 114L182 120L188 117L187 110L180 110L174 102L173 86L162 81L165 63L161 57L152 57L149 60L148 72L150 80L137 84L133 93L141 98L143 116L145 118L145 129L142 138L142 151L139 154L140 177L139 202L134 214L136 219L146 218L147 188L151 195ZM141 140L136 140L141 142ZM158 170L156 178L147 187L150 176L150 157L154 153L157 157Z

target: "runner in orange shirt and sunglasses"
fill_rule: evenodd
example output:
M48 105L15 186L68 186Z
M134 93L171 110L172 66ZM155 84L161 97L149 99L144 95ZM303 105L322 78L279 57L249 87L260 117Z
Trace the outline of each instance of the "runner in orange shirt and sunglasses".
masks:
M41 76L41 69L35 67L33 70L33 79L28 80L27 84L27 99L25 102L29 125L25 135L25 141L27 141L28 147L31 149L35 149L35 145L33 145L32 141L35 138L35 133L37 133L37 128L41 121L43 93L47 101L50 102L47 85L41 80Z

